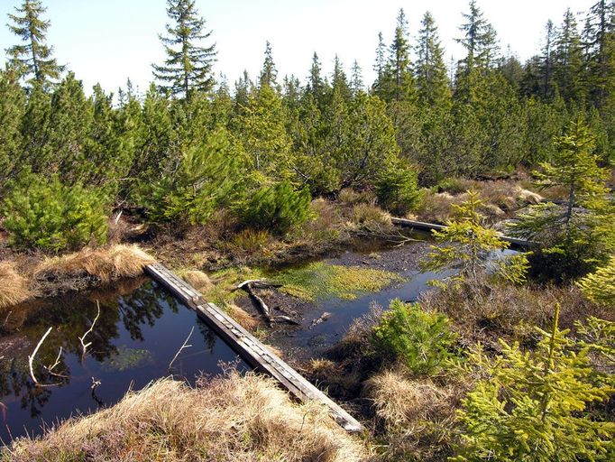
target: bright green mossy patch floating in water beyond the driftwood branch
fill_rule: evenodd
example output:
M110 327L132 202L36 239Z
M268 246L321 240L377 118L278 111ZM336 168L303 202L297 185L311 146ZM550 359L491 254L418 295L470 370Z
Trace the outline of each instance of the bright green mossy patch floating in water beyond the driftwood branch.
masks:
M276 274L273 281L282 284L280 291L314 301L328 297L354 300L363 293L381 291L392 282L403 281L403 278L396 273L372 268L314 262L284 270Z

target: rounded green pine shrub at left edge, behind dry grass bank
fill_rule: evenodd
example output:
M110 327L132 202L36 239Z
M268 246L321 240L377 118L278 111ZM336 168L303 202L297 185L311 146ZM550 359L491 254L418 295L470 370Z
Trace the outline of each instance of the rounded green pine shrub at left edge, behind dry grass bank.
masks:
M104 244L107 236L106 198L81 184L67 186L23 171L7 188L0 205L9 244L58 252L87 244Z

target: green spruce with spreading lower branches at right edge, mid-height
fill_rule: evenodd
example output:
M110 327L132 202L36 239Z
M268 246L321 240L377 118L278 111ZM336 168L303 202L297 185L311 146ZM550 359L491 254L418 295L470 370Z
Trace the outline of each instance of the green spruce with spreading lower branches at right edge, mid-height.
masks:
M614 211L605 187L609 169L599 166L595 138L583 119L574 120L554 144L551 162L535 174L539 187L565 189L565 205L532 206L510 228L540 244L530 259L535 273L566 280L592 271L615 248Z

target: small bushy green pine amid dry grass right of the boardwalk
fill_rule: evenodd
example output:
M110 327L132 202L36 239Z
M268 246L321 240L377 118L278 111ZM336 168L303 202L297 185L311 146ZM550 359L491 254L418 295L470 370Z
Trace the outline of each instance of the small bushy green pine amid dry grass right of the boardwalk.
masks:
M385 360L400 360L414 374L437 374L454 356L455 339L445 315L399 299L390 302L373 329L376 352Z

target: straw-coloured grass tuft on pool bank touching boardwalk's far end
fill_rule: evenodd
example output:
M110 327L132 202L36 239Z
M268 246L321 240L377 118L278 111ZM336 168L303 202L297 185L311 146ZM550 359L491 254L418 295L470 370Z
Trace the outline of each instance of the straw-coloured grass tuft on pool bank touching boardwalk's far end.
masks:
M50 273L56 277L67 273L86 273L106 283L139 276L143 268L153 262L153 258L136 245L112 245L98 249L86 247L75 254L45 259L36 269L35 276L40 279Z

